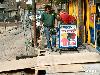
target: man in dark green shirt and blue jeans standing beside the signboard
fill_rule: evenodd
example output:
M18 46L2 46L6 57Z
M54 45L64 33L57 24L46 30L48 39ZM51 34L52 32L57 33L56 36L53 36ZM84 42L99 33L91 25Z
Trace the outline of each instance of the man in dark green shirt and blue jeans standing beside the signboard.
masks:
M57 21L55 12L52 10L51 6L46 5L45 12L41 15L41 25L43 24L44 34L47 40L47 48L50 50L56 46L56 40L54 36L55 34L54 28L57 24L56 22ZM50 38L52 38L52 41L50 40Z

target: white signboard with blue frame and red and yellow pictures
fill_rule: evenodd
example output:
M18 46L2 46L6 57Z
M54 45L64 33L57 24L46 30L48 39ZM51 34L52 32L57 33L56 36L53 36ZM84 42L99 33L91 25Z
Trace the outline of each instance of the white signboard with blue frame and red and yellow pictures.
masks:
M60 25L60 48L77 47L77 28L76 25Z

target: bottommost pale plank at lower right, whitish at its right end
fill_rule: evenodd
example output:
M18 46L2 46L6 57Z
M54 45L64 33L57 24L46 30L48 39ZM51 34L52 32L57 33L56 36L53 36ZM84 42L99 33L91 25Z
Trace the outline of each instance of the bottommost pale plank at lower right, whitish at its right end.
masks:
M46 70L46 73L78 73L78 72L100 72L100 63L91 64L69 64L36 67L37 70Z

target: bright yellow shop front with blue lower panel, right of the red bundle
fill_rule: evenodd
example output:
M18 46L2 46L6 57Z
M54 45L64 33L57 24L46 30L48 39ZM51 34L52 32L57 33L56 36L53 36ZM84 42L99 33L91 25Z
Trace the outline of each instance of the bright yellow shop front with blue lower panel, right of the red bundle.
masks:
M77 19L78 36L82 43L95 47L95 13L94 0L70 0L69 14Z

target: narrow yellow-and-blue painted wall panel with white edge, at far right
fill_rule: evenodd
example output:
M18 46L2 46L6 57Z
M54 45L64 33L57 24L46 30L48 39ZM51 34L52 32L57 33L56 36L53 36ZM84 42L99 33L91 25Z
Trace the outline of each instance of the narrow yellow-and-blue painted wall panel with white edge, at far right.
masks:
M89 30L90 30L90 44L95 47L95 14L96 14L96 5L94 0L89 0Z

